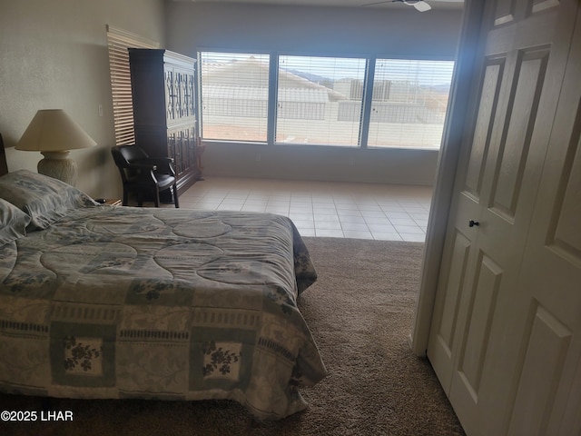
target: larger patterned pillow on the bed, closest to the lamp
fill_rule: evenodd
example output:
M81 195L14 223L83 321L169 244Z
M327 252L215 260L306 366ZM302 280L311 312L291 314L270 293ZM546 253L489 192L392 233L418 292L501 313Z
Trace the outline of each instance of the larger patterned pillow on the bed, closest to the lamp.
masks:
M74 186L28 170L0 177L0 198L30 216L29 230L46 229L66 216L67 211L96 204Z

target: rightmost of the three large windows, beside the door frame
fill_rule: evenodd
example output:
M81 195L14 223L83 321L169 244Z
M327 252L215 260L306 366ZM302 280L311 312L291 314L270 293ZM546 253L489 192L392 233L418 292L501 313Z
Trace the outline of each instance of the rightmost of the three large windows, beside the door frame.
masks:
M439 148L454 63L377 59L368 147Z

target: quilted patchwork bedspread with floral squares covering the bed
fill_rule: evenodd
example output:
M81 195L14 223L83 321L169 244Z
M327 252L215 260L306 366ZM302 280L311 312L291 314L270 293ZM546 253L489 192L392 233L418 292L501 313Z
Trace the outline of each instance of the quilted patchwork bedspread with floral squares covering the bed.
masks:
M291 221L94 206L0 247L0 391L306 407L326 370L297 309L316 280Z

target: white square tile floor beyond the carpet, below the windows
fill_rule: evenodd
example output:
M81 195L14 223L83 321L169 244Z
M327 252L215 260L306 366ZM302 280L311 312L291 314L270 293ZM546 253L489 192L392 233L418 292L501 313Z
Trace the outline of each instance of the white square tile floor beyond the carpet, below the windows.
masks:
M303 236L423 242L431 192L426 186L205 177L182 193L180 206L279 213Z

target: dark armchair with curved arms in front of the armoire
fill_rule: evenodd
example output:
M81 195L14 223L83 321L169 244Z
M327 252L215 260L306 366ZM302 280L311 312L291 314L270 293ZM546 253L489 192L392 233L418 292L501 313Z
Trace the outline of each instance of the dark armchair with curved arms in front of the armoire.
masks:
M139 206L143 206L143 198L151 193L155 207L159 207L160 193L170 190L175 207L180 207L172 158L149 157L137 145L116 145L111 154L123 181L123 206L133 192Z

